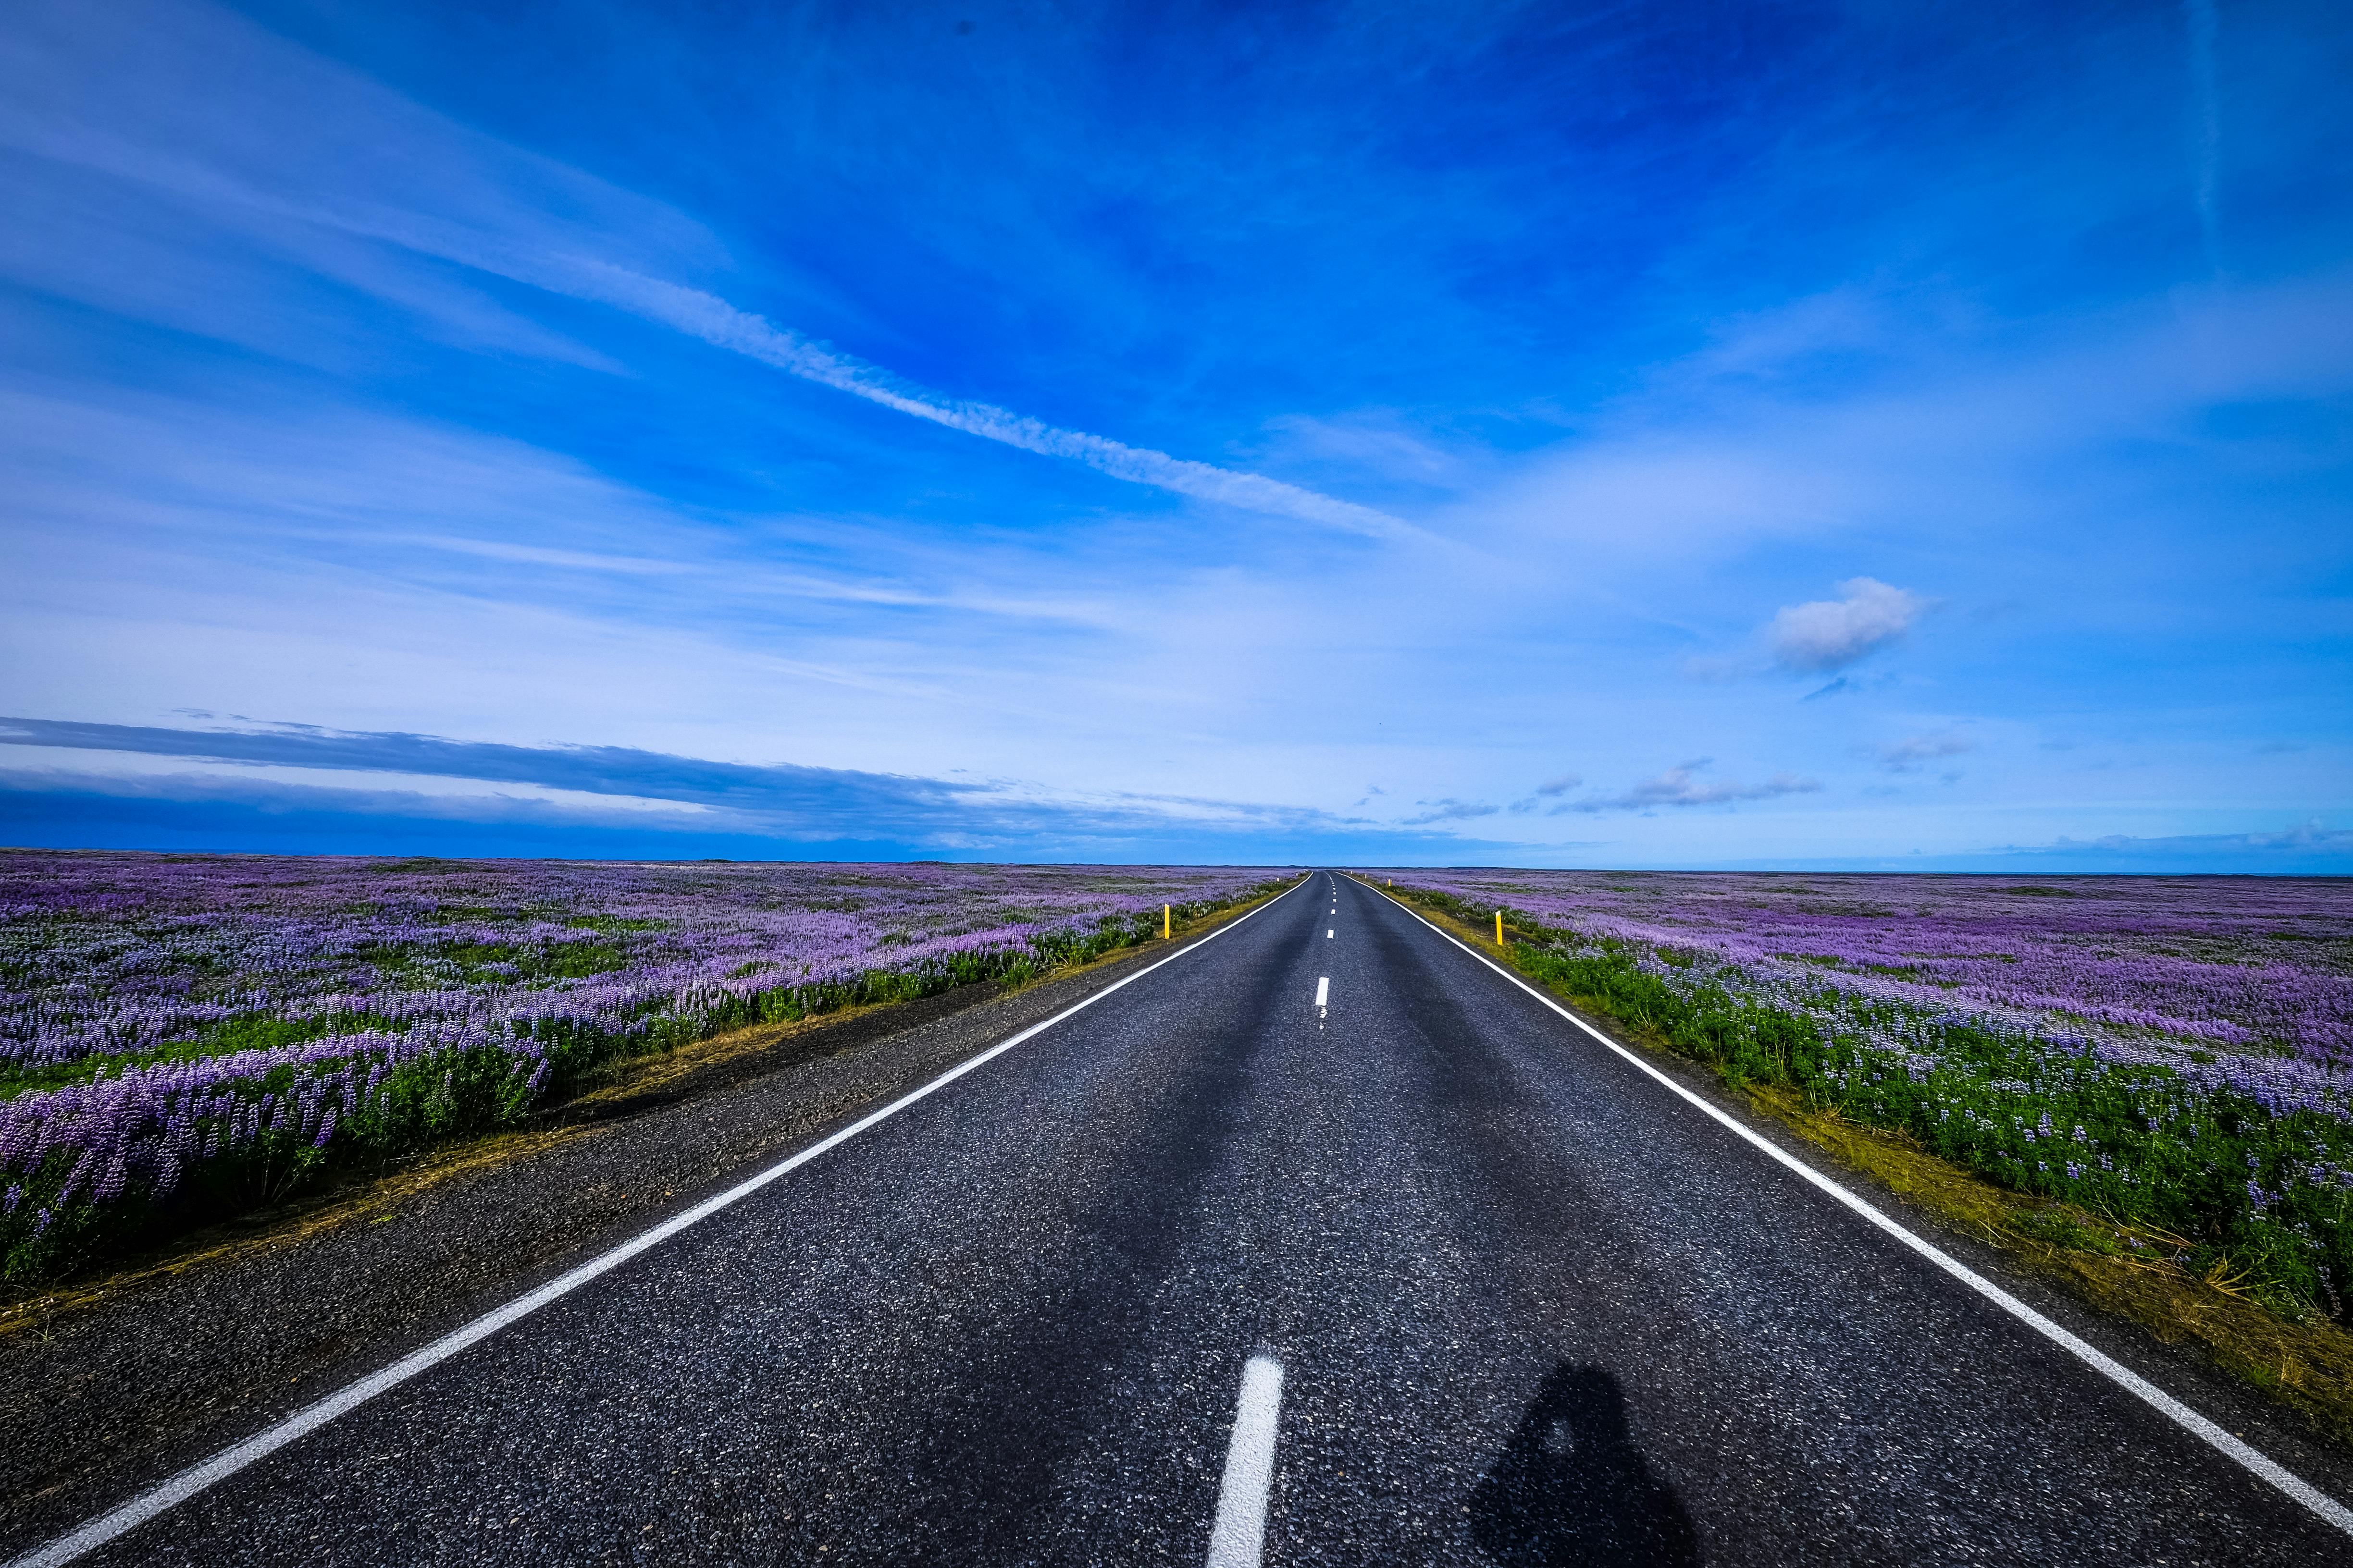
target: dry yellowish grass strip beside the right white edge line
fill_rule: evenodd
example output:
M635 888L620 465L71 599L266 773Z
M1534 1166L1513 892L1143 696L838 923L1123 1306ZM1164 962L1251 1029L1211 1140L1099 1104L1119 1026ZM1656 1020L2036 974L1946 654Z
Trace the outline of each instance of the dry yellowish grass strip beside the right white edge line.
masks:
M2353 1333L2311 1307L2282 1302L2275 1291L2261 1291L2228 1251L2195 1246L2193 1239L2146 1220L2017 1192L1939 1157L1904 1128L1852 1119L1824 1095L1809 1095L1802 1084L1765 1081L1739 1063L1708 1060L1682 1048L1666 1027L1621 1018L1605 997L1565 985L1560 966L1541 959L1546 947L1539 943L1551 936L1548 929L1532 931L1506 917L1506 943L1499 947L1489 912L1449 907L1461 900L1419 889L1379 882L1369 886L1475 950L1499 954L1513 971L1579 1011L1609 1020L1621 1039L1713 1067L1760 1117L1788 1126L1849 1171L1873 1178L1953 1229L2000 1248L2078 1300L2137 1324L2160 1342L2200 1349L2214 1366L2299 1410L2339 1443L2353 1446Z

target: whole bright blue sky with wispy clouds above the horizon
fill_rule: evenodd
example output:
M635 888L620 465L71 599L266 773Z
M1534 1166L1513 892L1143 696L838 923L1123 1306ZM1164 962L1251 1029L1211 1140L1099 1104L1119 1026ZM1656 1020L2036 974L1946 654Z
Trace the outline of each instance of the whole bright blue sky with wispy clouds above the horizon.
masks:
M19 0L0 842L2346 872L2346 80Z

